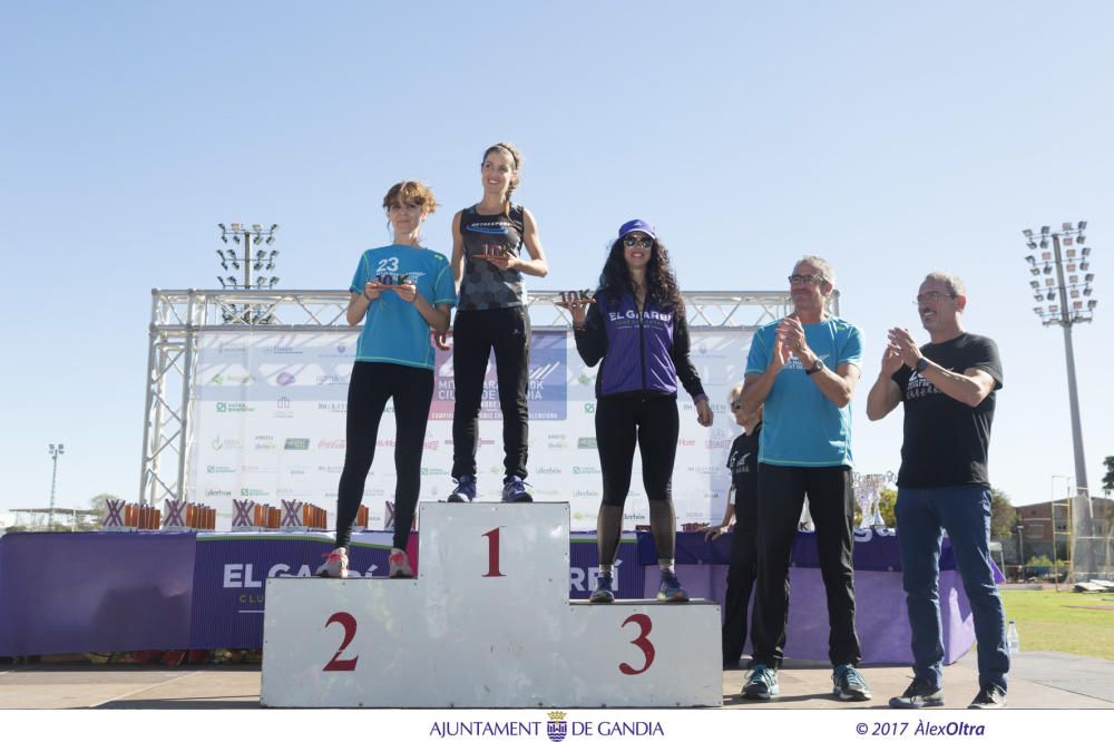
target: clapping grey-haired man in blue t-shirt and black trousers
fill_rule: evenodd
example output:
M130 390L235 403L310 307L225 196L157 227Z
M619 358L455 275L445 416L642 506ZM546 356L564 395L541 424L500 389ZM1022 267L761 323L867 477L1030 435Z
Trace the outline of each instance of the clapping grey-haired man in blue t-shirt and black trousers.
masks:
M840 701L867 701L870 687L857 670L861 656L851 566L850 404L862 341L858 328L825 309L836 289L828 261L805 255L793 267L789 285L794 311L754 333L743 383L744 411L764 403L765 413L759 456L754 657L742 695L778 694L789 618L789 562L808 497L828 595L833 694Z

